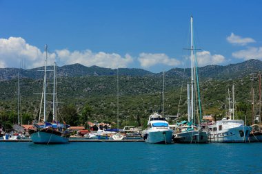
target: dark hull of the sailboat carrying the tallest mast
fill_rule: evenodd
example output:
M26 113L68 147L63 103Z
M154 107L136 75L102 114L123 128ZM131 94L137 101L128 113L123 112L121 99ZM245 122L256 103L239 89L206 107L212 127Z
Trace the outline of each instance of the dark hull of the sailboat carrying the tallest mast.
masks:
M208 143L208 133L205 131L185 131L174 135L174 142L179 143Z

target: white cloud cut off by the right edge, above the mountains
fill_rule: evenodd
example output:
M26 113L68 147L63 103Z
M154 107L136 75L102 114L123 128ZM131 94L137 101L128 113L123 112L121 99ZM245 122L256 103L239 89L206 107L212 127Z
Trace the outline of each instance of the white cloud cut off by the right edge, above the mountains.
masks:
M247 50L233 52L232 56L234 58L243 58L244 60L262 59L262 47L248 47Z

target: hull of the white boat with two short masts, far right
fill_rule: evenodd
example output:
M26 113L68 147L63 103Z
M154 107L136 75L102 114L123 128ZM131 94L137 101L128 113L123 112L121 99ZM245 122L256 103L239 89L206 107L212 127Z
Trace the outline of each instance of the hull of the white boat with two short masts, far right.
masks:
M208 140L210 142L248 142L252 127L239 126L221 131L210 131Z

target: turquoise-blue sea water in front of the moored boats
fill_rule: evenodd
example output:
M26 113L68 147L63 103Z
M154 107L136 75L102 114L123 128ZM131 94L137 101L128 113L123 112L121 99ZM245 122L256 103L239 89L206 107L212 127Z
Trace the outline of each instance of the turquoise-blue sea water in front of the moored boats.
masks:
M262 173L262 143L0 142L0 173Z

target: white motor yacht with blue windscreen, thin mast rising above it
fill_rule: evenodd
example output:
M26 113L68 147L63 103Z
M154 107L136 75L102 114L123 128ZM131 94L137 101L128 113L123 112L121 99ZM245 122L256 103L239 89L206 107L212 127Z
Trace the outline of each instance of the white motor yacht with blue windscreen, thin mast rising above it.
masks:
M164 73L163 73L164 87ZM163 91L162 91L163 100ZM170 129L168 122L163 117L163 102L162 116L158 113L153 113L148 118L148 128L142 131L142 137L145 142L156 144L170 144L172 142L173 130Z

